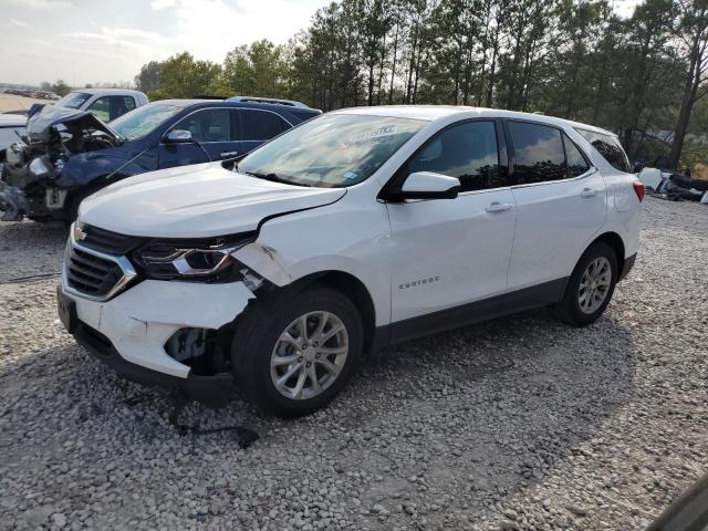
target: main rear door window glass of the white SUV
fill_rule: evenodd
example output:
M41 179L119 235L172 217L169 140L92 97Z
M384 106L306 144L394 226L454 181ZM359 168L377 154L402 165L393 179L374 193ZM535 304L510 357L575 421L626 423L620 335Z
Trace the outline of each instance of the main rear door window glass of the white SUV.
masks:
M566 178L561 132L528 122L508 122L513 142L517 185Z

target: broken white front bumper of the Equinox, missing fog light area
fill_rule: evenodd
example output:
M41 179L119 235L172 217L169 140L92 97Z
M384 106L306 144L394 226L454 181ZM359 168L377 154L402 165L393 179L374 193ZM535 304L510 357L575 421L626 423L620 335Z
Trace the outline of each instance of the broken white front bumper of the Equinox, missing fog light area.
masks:
M176 360L174 345L185 329L216 332L243 312L253 294L242 282L144 280L106 302L71 291L62 277L59 311L64 326L121 376L181 393L210 407L232 398L230 373L200 374Z

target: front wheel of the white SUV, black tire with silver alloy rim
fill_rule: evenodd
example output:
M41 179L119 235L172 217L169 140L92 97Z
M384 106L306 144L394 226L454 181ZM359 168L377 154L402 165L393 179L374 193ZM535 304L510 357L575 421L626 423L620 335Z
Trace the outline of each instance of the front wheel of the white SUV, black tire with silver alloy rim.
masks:
M323 321L324 330L317 335ZM343 331L334 332L340 326ZM331 333L332 337L317 342ZM315 285L250 306L236 330L231 366L251 404L280 417L299 417L332 402L351 378L362 348L363 326L356 306L341 292Z

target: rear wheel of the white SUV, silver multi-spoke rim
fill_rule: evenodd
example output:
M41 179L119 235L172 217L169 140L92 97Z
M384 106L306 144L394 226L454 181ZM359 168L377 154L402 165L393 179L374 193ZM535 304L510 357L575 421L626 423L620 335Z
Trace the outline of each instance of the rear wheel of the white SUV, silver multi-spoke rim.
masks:
M577 261L565 287L563 300L552 308L553 315L573 326L594 323L610 304L617 275L615 250L607 243L593 243ZM598 300L601 296L602 300Z

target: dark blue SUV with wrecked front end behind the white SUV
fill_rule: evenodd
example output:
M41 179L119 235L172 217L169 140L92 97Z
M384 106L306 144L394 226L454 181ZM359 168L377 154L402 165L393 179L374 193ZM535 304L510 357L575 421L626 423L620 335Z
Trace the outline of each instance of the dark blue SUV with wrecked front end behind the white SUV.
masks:
M46 106L7 148L2 220L76 218L81 200L126 177L235 158L321 114L299 102L239 96L163 100L105 124L91 113Z

